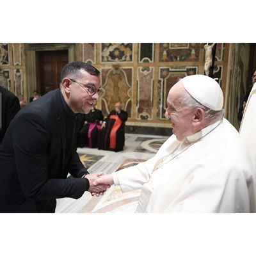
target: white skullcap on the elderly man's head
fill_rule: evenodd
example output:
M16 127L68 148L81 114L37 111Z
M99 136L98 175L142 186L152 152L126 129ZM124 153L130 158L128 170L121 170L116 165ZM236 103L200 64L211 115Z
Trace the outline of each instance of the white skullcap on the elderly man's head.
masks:
M205 107L216 111L223 108L223 92L216 80L204 75L186 76L181 80L186 91Z

